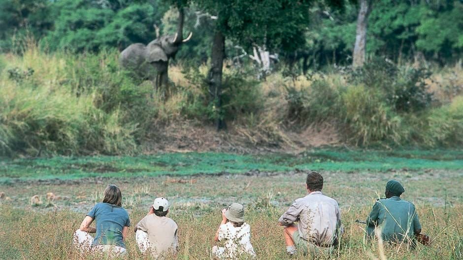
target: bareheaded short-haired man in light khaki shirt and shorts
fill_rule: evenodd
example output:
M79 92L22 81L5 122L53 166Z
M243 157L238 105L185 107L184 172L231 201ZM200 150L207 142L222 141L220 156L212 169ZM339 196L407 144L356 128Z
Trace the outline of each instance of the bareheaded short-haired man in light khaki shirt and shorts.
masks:
M306 188L309 194L297 199L278 220L284 226L286 251L290 255L298 250L304 255L330 254L340 233L339 205L322 193L320 173L307 174Z

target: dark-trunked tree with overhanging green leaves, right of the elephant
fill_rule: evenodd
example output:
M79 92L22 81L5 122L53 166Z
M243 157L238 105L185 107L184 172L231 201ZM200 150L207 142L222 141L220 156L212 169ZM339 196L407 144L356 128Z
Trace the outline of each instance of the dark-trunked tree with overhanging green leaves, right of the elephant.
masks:
M342 5L343 1L328 2ZM214 107L220 111L225 40L233 40L247 52L256 45L265 46L269 51L294 51L305 43L304 31L312 1L199 0L197 4L217 16L207 81ZM220 116L216 118L216 126L218 130L226 127Z

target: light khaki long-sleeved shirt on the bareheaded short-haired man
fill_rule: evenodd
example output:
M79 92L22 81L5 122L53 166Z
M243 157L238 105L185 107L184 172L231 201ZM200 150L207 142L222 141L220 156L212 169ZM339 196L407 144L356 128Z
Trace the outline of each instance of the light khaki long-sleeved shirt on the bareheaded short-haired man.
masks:
M298 222L300 237L316 245L331 246L341 226L338 203L321 191L297 199L278 220L289 226Z

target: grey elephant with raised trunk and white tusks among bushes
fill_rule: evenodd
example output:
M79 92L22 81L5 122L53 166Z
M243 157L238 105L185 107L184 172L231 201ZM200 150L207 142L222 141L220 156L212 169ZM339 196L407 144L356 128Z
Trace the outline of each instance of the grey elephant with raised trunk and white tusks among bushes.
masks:
M183 39L183 9L179 9L179 21L177 32L158 37L144 45L134 43L121 52L119 62L122 67L131 70L142 79L154 81L157 90L164 90L165 98L168 98L168 65L169 59L175 58L175 54L181 44L189 41L192 32Z

